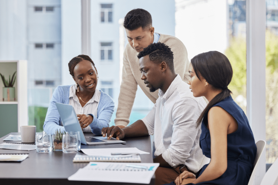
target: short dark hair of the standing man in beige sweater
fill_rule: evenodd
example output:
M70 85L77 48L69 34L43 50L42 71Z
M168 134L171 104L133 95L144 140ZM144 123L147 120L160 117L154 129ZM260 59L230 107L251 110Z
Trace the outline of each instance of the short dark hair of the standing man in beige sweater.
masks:
M152 16L144 9L137 8L129 11L124 17L124 28L132 31L139 27L145 29L145 27L152 26Z

